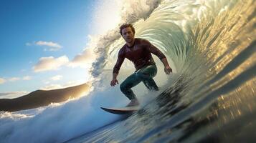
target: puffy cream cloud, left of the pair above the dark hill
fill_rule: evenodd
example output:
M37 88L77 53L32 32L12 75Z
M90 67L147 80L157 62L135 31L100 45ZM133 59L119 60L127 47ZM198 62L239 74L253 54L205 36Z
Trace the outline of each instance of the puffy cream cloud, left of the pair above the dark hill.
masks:
M60 56L56 59L54 59L53 56L42 57L32 69L34 70L34 72L52 71L59 69L60 66L63 66L68 62L69 59L67 58L67 56Z

